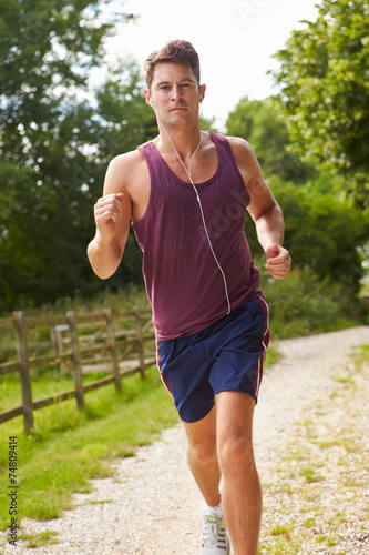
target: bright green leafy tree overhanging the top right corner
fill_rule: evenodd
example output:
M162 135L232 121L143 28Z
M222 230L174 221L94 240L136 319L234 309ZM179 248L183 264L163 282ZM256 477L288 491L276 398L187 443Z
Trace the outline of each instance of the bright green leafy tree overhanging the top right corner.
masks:
M347 178L347 191L369 204L369 4L322 0L315 22L295 30L274 71L291 140L306 159Z

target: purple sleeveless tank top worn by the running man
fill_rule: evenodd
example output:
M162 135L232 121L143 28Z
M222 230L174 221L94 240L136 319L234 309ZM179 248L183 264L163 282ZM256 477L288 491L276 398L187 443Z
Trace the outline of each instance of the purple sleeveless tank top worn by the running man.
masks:
M250 199L227 139L209 133L218 167L196 189L233 311L263 295L244 231ZM228 312L228 302L192 184L175 175L151 141L139 149L148 167L151 193L145 214L132 228L143 251L156 337L165 341L207 327Z

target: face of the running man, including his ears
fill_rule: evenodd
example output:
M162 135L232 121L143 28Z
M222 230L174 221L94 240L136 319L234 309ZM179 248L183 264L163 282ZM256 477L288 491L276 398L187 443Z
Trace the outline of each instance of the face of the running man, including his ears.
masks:
M151 91L145 91L160 120L180 123L198 120L198 104L205 93L189 65L162 62L155 65Z

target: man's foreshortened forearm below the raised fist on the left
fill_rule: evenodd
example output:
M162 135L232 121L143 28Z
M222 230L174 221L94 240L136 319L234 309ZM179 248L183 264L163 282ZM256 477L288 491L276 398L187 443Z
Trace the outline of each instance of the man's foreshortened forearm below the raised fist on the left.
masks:
M120 265L122 253L114 236L103 240L96 234L88 246L88 256L95 274L101 280L106 280Z

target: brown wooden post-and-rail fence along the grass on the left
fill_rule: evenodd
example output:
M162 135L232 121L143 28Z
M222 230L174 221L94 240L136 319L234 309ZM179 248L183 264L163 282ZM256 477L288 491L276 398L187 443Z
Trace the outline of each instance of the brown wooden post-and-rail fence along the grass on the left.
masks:
M35 329L48 329L50 340L31 343L29 335ZM65 316L44 317L25 317L23 312L14 312L13 317L0 319L0 334L3 330L8 330L7 334L13 331L14 343L0 350L13 351L17 360L0 364L0 377L19 373L22 404L0 412L0 424L23 415L25 432L33 428L33 411L71 397L75 397L79 410L83 410L86 392L111 383L121 391L123 377L140 372L144 379L146 366L156 359L151 312L139 309L121 313L109 309L92 314L68 312ZM53 353L30 356L34 347ZM61 364L71 366L74 389L32 401L30 370ZM109 375L84 385L83 374L93 371L107 371Z

